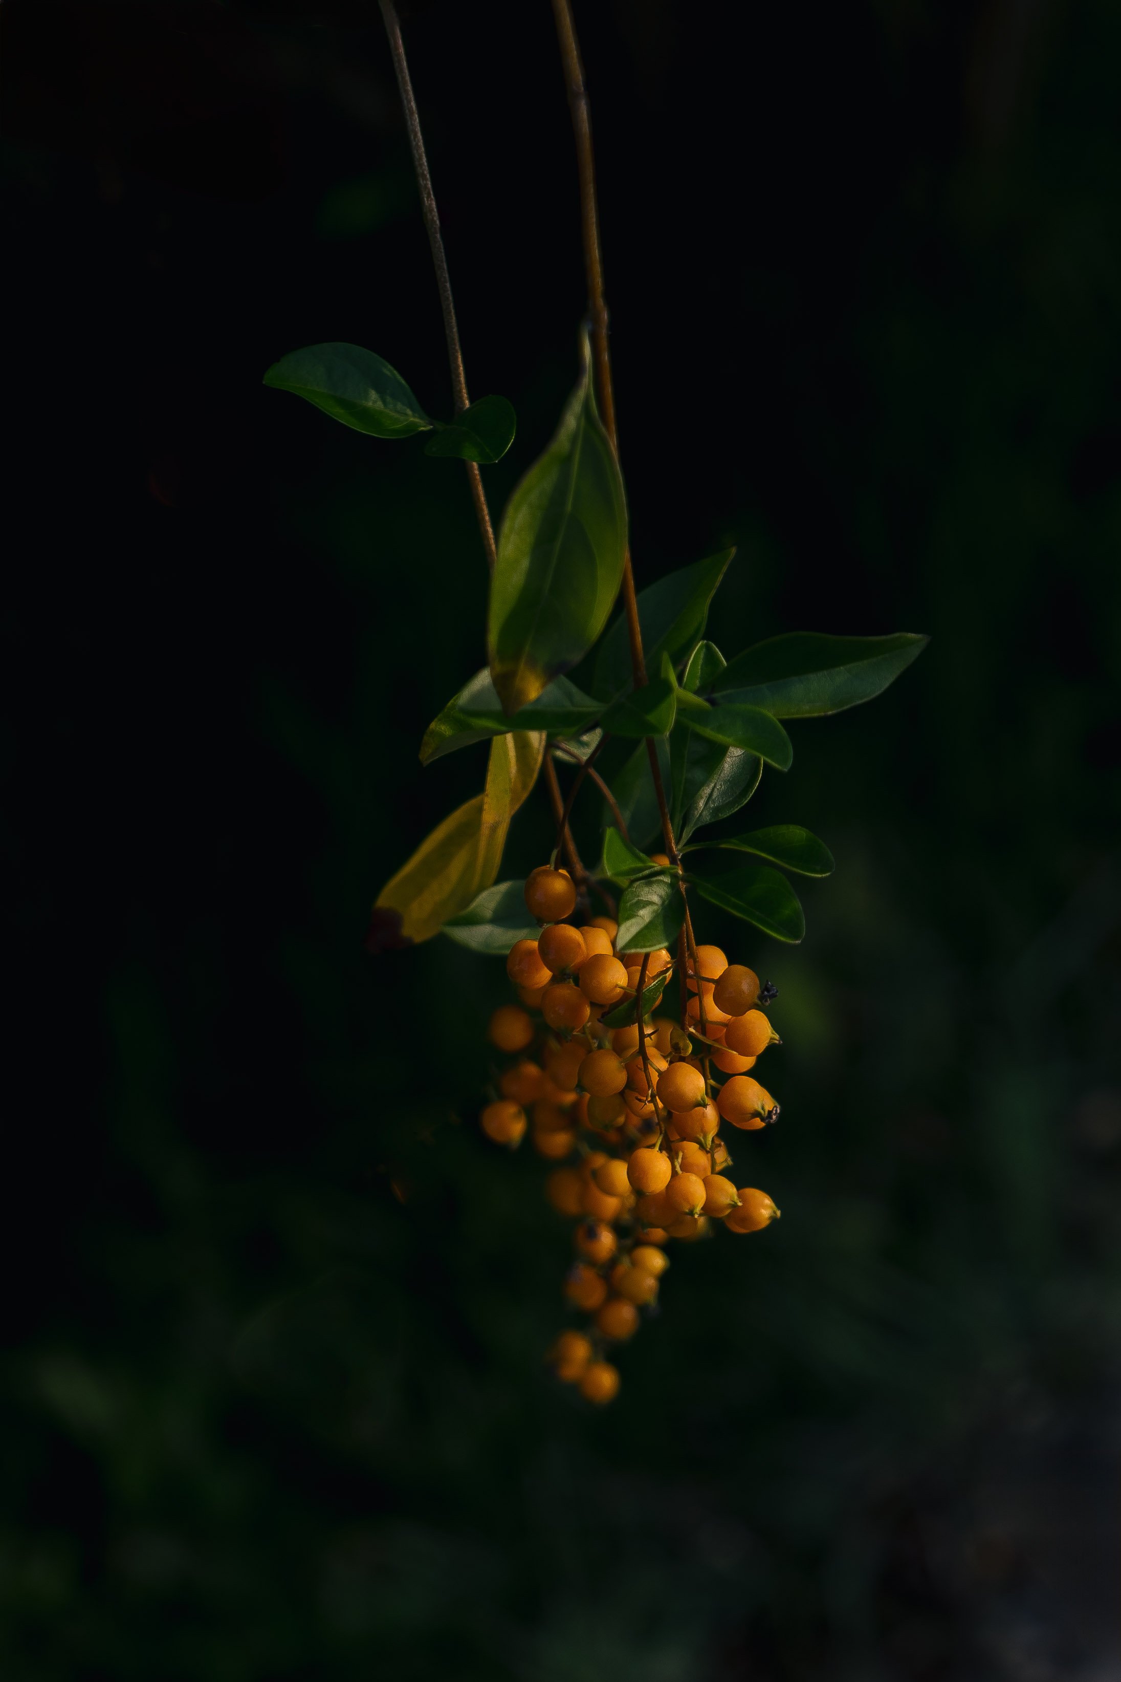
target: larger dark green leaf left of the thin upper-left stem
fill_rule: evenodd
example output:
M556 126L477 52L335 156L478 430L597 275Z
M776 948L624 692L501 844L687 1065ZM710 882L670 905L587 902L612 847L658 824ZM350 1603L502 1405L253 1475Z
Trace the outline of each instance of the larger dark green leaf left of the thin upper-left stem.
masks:
M361 345L294 350L272 363L264 383L306 397L316 409L370 437L408 437L432 429L397 368Z

